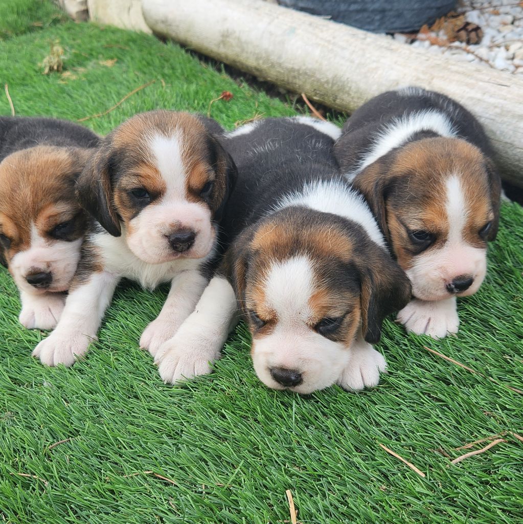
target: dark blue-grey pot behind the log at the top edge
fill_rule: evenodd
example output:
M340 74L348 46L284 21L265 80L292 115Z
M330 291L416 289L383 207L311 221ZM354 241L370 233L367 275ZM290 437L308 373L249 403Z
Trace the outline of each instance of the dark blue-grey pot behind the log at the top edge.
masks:
M457 0L278 0L313 15L374 32L416 31L447 14Z

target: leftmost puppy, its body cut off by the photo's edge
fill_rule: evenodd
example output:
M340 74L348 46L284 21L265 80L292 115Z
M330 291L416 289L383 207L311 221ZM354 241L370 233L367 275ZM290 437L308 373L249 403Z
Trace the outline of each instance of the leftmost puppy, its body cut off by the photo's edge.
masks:
M86 230L74 183L98 143L70 122L0 117L0 259L26 328L52 329L62 313Z

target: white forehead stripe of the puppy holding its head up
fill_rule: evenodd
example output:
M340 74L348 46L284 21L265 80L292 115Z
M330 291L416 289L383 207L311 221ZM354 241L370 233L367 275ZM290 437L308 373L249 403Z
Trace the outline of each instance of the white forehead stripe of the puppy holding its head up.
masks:
M186 200L187 173L182 161L184 140L181 133L175 133L169 137L154 135L150 140L150 147L167 187L164 198Z

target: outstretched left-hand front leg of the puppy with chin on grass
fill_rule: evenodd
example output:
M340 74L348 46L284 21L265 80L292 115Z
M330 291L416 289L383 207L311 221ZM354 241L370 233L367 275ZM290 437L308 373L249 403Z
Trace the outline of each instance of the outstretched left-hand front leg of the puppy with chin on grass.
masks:
M160 348L157 362L165 383L210 373L229 331L236 325L236 296L228 280L214 277L174 337Z

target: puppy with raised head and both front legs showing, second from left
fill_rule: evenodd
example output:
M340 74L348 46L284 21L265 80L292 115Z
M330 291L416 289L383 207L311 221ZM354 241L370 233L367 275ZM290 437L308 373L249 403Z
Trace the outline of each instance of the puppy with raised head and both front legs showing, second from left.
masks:
M153 355L194 309L236 178L216 130L203 117L152 111L104 138L77 183L80 203L95 220L62 318L33 352L44 364L69 366L87 351L121 278L148 289L171 282L140 340Z

